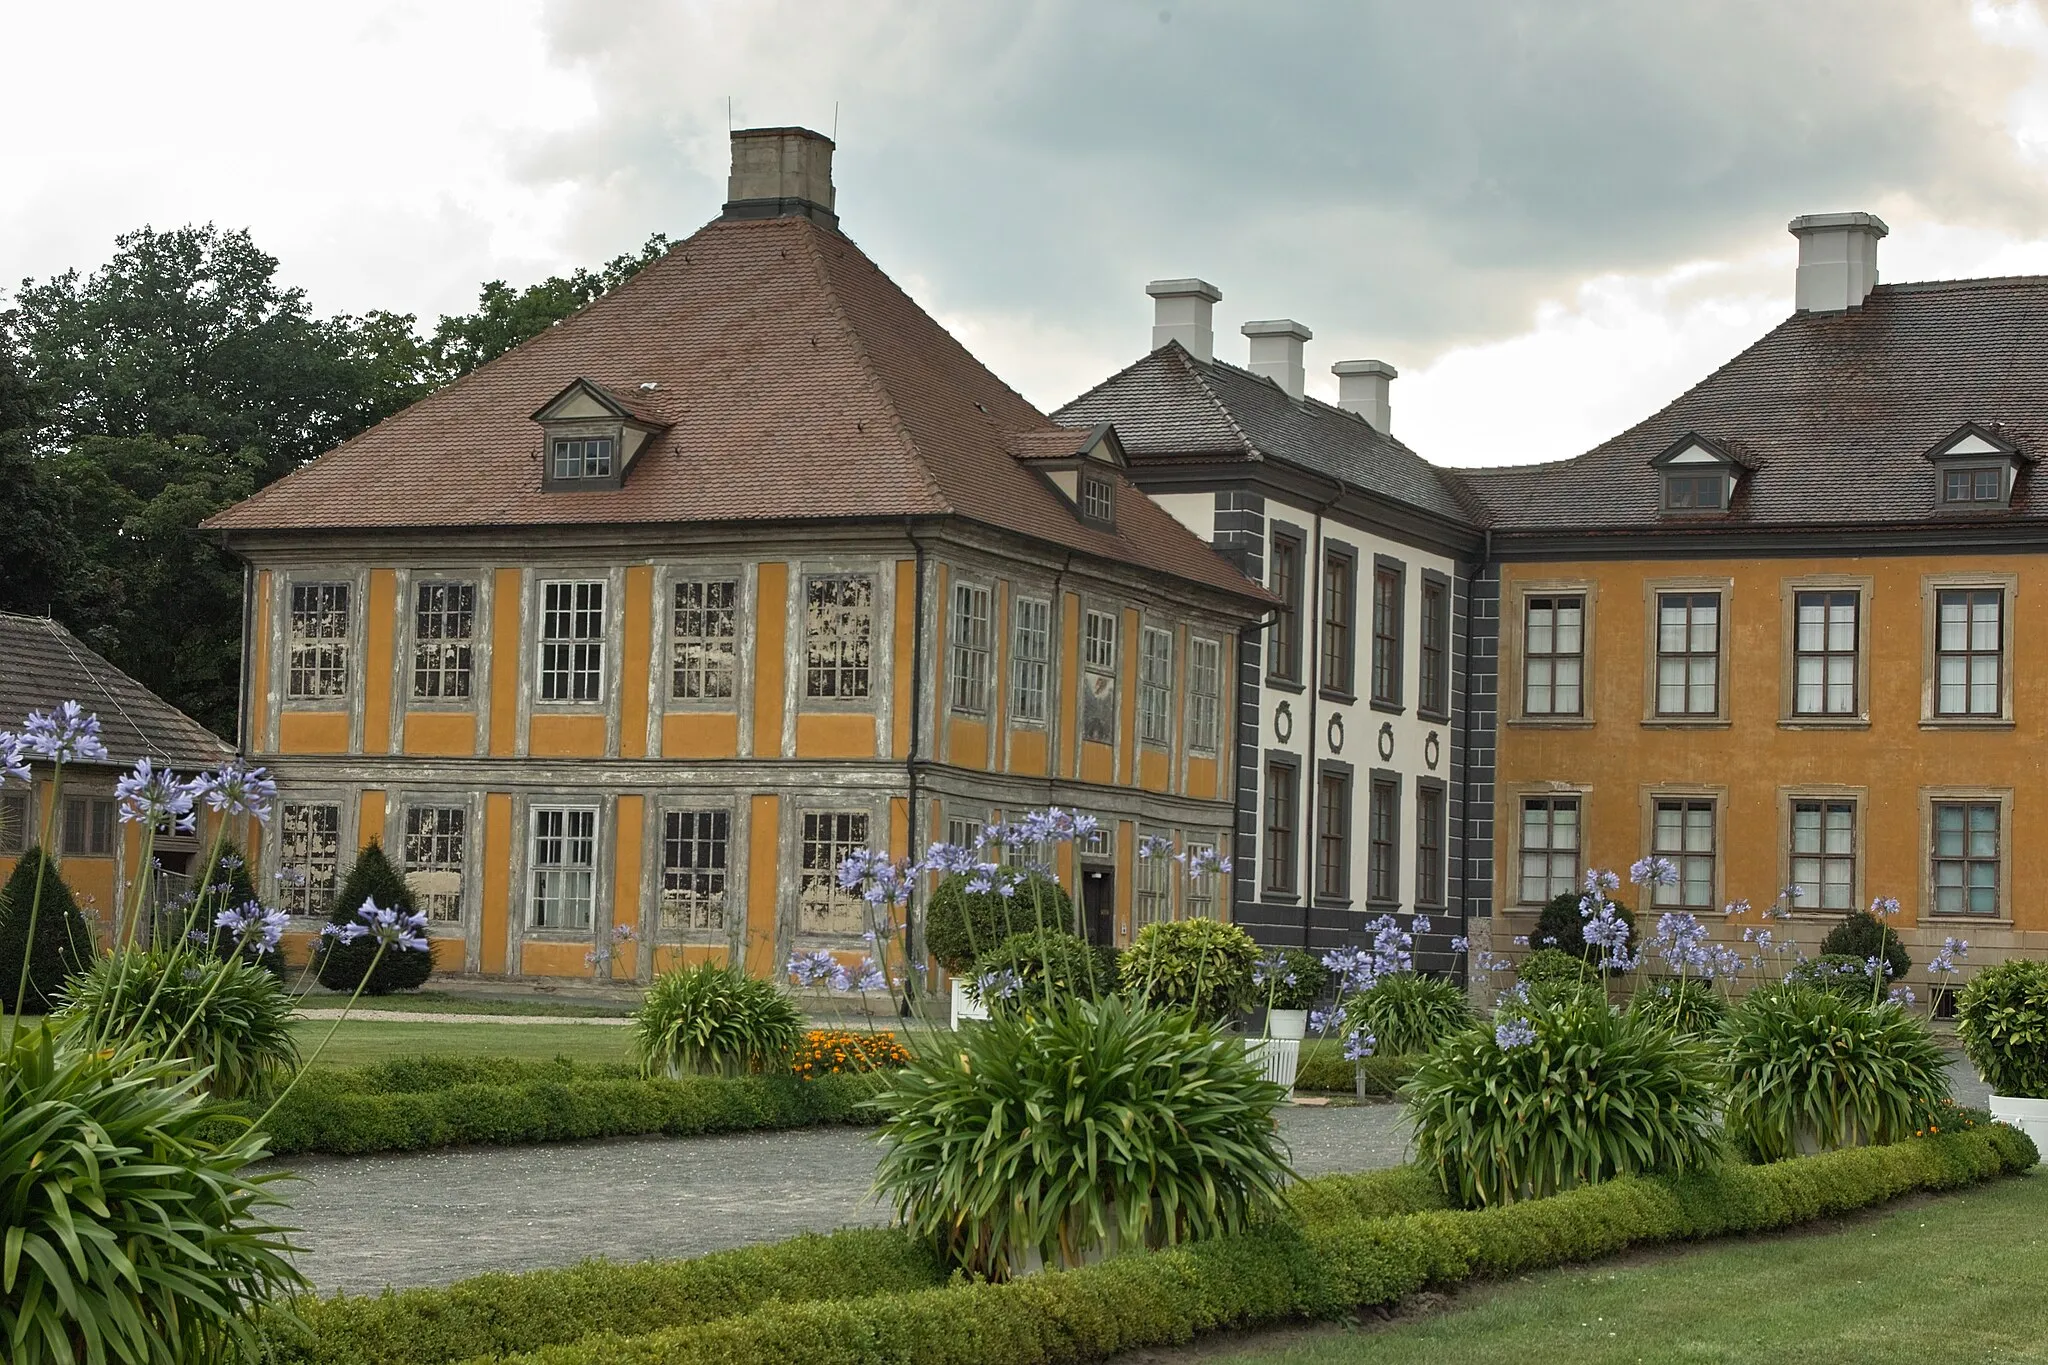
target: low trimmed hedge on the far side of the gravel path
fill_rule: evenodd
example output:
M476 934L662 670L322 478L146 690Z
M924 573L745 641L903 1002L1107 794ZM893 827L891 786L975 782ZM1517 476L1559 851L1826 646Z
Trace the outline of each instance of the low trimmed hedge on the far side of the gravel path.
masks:
M313 1070L270 1115L276 1156L416 1152L463 1144L688 1138L874 1124L872 1076L643 1078L629 1066L514 1058L395 1058ZM223 1105L221 1132L266 1103Z

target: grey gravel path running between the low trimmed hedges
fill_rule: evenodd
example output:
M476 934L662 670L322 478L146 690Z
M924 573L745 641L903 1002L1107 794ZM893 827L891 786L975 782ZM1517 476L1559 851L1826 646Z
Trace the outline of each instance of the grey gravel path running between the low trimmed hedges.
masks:
M442 1015L446 1017L446 1015ZM1294 1105L1282 1130L1303 1175L1401 1162L1395 1105ZM322 1289L438 1285L586 1257L700 1257L887 1222L868 1197L874 1142L846 1128L637 1138L403 1156L303 1156L281 1193Z

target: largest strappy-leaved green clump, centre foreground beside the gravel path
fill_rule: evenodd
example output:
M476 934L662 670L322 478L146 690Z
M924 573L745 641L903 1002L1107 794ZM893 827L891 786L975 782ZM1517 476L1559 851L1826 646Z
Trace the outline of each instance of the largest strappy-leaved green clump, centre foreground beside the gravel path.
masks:
M1280 1207L1284 1099L1241 1040L1184 1009L1067 999L899 1070L877 1099L874 1185L913 1236L991 1279L1212 1238Z

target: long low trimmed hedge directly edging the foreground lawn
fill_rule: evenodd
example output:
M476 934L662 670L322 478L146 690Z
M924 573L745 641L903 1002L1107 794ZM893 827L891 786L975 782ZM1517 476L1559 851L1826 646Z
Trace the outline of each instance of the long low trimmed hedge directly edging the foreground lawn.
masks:
M1628 1177L1479 1212L1372 1218L1323 1209L1305 1224L1116 1257L1006 1285L856 1300L770 1302L735 1318L645 1336L600 1334L471 1365L1053 1365L1196 1334L1384 1306L1430 1285L1501 1277L1628 1246L1774 1232L1909 1191L2025 1171L2009 1128L1915 1138L1769 1166Z

